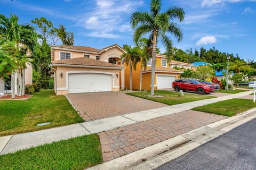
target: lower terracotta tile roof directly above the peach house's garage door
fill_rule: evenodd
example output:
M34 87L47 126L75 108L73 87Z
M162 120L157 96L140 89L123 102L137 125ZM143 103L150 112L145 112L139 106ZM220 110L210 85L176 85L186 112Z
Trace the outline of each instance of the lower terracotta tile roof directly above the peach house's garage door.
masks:
M103 61L95 60L87 57L70 58L67 60L52 61L52 64L70 64L70 65L88 65L88 66L102 66L102 67L120 67L123 66L117 64L106 63Z

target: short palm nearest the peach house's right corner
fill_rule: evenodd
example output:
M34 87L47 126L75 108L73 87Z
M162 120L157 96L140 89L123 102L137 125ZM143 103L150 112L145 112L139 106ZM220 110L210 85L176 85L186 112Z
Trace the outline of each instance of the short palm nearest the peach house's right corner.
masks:
M136 70L136 65L134 65L134 61L137 60L137 58L139 57L138 54L138 49L136 47L131 47L128 45L124 45L124 49L126 50L127 53L123 53L121 55L121 61L122 64L126 64L129 65L129 69L130 69L130 90L132 90L132 67L134 70Z

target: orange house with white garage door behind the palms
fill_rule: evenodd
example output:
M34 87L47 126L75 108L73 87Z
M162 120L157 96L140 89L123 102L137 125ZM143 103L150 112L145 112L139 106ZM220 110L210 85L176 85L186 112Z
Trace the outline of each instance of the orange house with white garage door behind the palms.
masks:
M181 64L182 62L180 62ZM182 63L187 65L187 63ZM125 64L125 87L130 89L130 69ZM172 82L180 78L183 70L172 69L172 63L167 63L166 56L156 54L156 71L155 71L155 88L167 89L172 88ZM140 88L140 68L141 64L138 63L136 70L132 70L132 89ZM148 67L142 72L142 90L150 90L151 88L151 60L148 61Z

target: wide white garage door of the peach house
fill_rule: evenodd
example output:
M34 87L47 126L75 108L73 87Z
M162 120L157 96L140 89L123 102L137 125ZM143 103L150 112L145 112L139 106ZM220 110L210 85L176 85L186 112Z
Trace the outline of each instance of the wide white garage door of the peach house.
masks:
M68 75L68 92L98 92L112 90L112 75L98 73L76 73Z

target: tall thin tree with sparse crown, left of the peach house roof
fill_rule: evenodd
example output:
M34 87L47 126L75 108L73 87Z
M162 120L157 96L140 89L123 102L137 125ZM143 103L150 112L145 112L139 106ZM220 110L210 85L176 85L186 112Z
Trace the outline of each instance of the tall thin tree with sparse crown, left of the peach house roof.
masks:
M51 35L51 31L53 29L53 24L51 21L48 21L46 18L35 18L31 21L32 23L36 24L37 27L40 29L40 32L42 34L41 39L43 41L47 41L47 38L49 35Z

